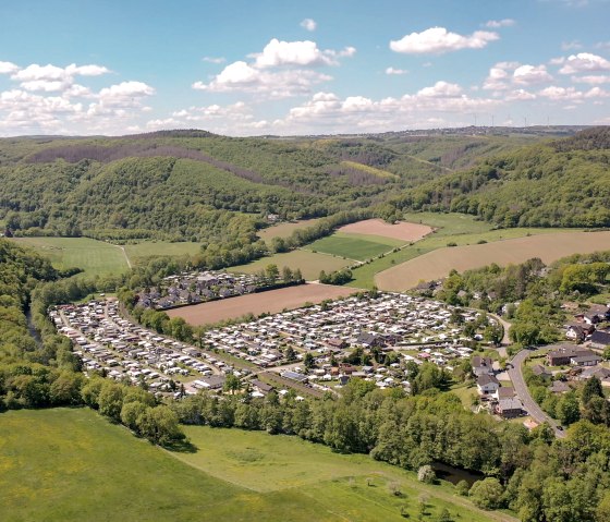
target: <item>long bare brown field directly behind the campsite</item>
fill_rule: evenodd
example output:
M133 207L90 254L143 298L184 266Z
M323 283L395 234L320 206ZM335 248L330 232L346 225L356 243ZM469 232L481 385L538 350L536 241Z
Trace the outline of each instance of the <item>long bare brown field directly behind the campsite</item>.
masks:
M251 293L222 301L194 304L167 311L170 317L183 317L191 325L209 325L220 320L233 319L246 314L277 314L284 308L298 308L305 303L321 303L326 299L346 298L357 289L333 287L331 284L300 284L268 292Z

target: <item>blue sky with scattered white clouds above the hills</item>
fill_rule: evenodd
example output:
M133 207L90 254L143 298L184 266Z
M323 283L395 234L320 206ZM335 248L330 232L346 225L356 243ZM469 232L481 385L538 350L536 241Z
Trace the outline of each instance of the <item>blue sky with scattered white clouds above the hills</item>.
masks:
M0 136L610 124L609 0L0 0Z

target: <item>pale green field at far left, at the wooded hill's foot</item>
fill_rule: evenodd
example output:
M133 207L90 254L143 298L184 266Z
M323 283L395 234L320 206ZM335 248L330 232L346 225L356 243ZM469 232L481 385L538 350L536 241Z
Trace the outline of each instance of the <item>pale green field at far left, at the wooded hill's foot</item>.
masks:
M15 241L49 258L56 268L83 268L84 276L88 277L117 275L129 268L123 251L103 241L89 238L19 238Z

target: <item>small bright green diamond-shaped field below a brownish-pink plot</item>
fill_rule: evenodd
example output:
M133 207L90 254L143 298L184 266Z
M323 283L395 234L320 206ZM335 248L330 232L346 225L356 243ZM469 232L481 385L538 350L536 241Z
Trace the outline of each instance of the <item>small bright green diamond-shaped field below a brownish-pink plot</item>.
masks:
M405 242L392 238L335 232L328 238L314 241L303 250L322 252L349 259L366 260L390 252Z

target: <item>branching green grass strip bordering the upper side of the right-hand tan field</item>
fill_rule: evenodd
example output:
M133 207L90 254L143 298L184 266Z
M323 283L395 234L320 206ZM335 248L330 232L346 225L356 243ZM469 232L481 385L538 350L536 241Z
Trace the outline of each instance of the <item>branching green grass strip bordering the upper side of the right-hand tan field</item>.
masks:
M492 230L489 223L475 221L472 216L463 214L408 214L404 217L404 219L416 223L422 222L424 224L428 224L436 228L436 230L417 243L402 248L400 252L388 254L385 257L357 267L353 270L354 280L350 283L350 286L357 288L373 288L375 284L375 276L377 274L435 250L443 248L450 242L455 243L456 245L474 245L480 241L491 243L495 241L523 238L527 235L549 233L559 234L573 231L570 229L532 228Z

